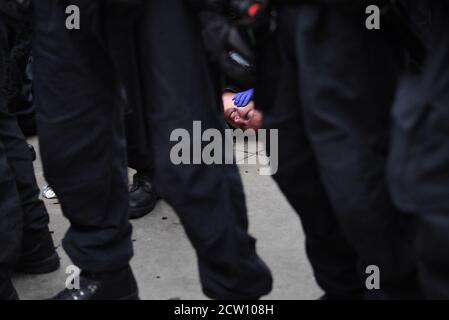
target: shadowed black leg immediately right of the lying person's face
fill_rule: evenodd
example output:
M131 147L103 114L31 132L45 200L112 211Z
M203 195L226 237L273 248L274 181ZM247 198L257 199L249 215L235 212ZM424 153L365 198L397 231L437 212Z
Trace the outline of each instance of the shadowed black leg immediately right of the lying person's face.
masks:
M358 258L330 205L304 129L289 27L296 10L283 10L280 17L278 30L258 48L256 87L256 104L264 107L264 126L279 133L279 169L274 179L301 219L307 255L325 297L360 299L364 287Z

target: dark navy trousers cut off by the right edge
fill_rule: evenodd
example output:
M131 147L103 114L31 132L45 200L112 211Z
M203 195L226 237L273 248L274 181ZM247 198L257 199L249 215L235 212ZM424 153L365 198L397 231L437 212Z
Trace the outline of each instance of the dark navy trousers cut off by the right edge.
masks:
M395 203L416 218L415 245L425 297L449 298L449 6L425 1L428 62L408 73L394 109L389 182Z

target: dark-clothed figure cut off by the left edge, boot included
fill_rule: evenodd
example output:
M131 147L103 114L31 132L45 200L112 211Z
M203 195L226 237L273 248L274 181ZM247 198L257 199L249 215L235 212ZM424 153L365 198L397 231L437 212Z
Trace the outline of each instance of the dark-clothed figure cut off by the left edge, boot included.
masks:
M10 35L23 19L26 15L14 1L0 1L0 300L18 298L11 283L13 271L42 274L59 268L32 153L8 111L6 92L14 65Z

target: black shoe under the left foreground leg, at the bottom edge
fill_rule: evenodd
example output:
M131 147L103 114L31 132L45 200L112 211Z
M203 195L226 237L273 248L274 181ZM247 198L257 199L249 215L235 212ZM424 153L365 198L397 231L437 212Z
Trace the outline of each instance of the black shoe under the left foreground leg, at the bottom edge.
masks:
M52 300L139 300L130 267L107 274L81 272L79 285L79 289L64 289Z

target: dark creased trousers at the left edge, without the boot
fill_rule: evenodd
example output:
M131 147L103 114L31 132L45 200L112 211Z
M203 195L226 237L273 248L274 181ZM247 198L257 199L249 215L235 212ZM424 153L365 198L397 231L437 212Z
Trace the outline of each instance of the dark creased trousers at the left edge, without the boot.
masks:
M49 222L39 200L31 153L16 118L7 111L3 90L8 47L7 25L0 21L0 275L12 269L21 243L48 231Z

